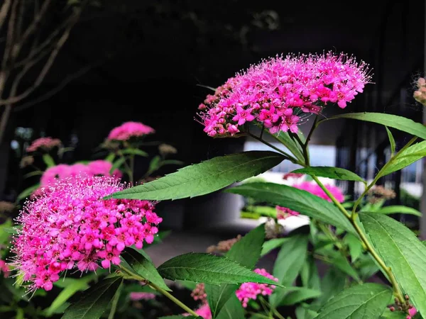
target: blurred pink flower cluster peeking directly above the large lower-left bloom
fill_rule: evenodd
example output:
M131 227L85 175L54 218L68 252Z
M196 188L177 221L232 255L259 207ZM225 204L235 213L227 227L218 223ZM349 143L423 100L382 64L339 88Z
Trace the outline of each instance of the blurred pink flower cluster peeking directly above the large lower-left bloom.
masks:
M112 167L112 163L103 159L98 159L89 164L59 164L53 167L49 167L45 170L40 178L40 186L48 187L55 184L58 180L74 178L80 175L87 176L110 176L109 171ZM112 176L116 178L121 177L121 172L116 169Z

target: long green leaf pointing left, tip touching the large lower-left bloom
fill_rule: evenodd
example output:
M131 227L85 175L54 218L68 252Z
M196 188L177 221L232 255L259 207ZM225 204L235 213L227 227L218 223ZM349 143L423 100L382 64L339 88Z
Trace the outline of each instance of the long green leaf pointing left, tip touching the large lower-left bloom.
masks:
M149 183L112 194L114 198L179 199L201 196L261 174L280 164L285 157L275 152L242 152L215 157L179 169Z

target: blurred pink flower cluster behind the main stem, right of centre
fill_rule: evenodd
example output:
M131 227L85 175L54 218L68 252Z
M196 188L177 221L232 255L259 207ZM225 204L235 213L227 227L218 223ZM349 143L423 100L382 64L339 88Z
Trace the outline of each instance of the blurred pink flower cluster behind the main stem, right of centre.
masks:
M292 185L296 189L302 189L304 191L309 191L311 194L314 194L315 196L318 196L320 198L325 199L326 201L331 202L332 200L325 194L325 192L322 190L320 186L318 186L313 181L303 181L300 184L294 184ZM344 194L342 193L342 190L339 189L337 186L325 184L324 185L326 189L334 196L334 198L339 201L339 203L343 203L344 201ZM300 213L297 213L297 211L292 211L290 208L282 207L282 206L276 206L277 209L277 218L278 219L285 219L290 216L297 216Z

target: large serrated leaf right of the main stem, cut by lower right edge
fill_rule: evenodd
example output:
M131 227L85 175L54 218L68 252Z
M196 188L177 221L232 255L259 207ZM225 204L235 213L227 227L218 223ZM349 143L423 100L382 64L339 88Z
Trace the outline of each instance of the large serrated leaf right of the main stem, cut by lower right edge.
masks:
M360 213L359 216L386 266L391 267L398 284L426 317L425 245L393 218L378 213Z

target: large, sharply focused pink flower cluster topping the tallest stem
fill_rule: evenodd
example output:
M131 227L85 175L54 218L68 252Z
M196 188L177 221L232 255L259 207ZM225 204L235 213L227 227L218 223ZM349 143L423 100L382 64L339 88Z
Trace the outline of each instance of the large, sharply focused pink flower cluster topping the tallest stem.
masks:
M204 132L212 137L235 135L241 125L257 121L270 133L297 133L301 114L319 113L327 103L345 108L370 78L364 62L344 54L263 60L200 104Z

